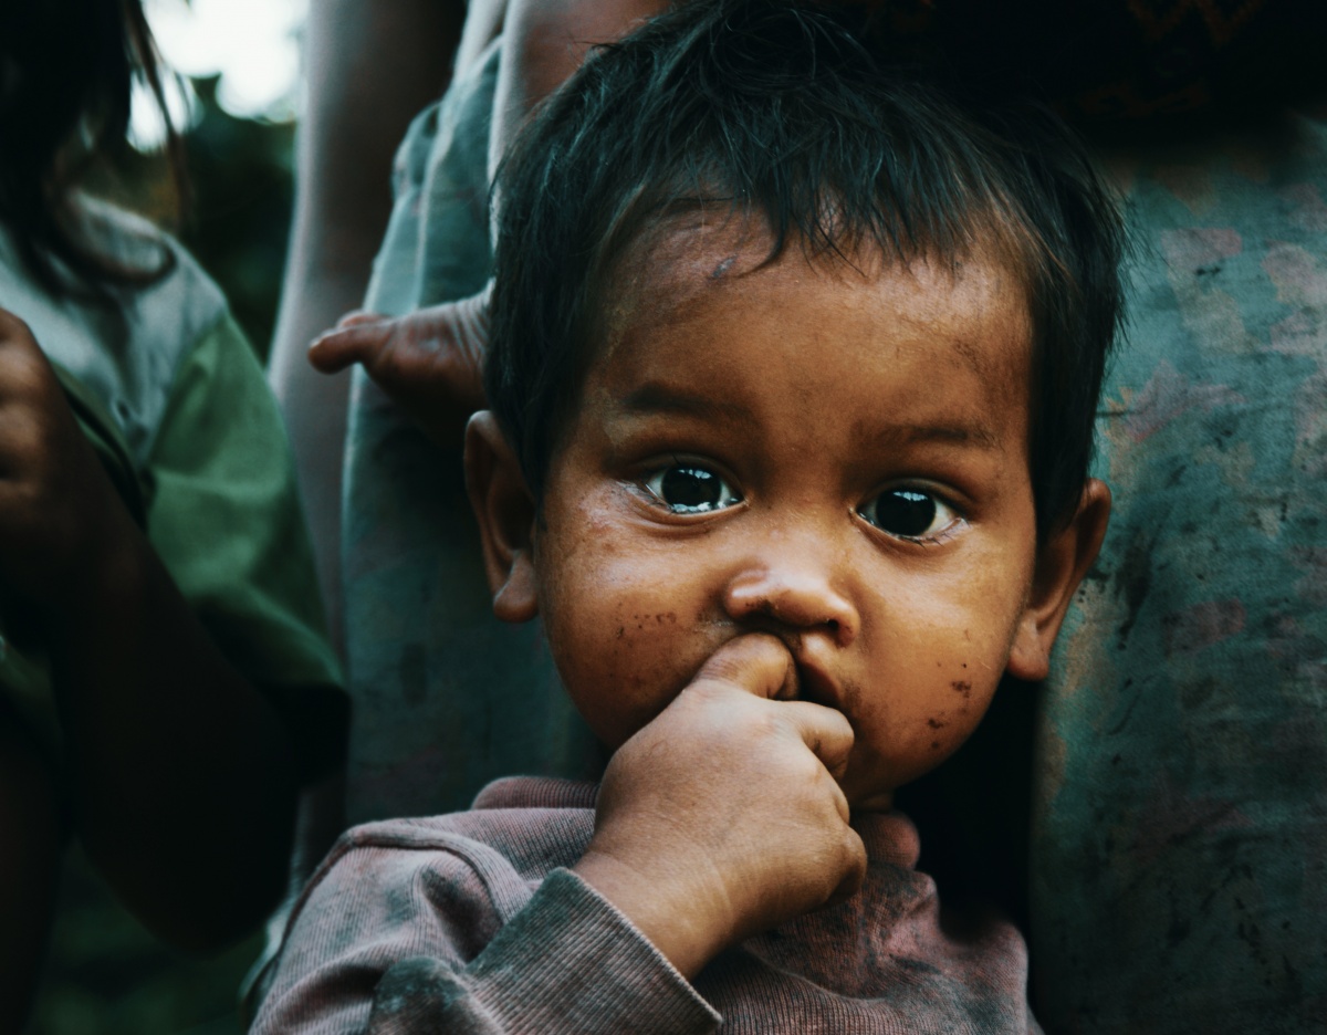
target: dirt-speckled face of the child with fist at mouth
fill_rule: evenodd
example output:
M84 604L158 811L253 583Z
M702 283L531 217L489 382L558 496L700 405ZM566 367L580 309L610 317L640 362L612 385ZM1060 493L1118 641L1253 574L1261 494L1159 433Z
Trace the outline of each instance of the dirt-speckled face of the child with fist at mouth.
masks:
M1063 614L1034 577L1024 291L981 255L767 249L690 227L624 263L504 592L613 748L772 633L852 724L849 803L888 808L1006 670L1043 674Z

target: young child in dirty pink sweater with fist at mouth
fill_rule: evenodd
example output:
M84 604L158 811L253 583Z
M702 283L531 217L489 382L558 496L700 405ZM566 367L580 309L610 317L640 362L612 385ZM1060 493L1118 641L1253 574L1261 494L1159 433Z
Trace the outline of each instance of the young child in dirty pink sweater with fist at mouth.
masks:
M256 1030L1036 1030L1018 933L941 924L892 804L1046 674L1105 531L1083 150L819 7L701 3L499 198L471 496L612 759L346 835Z

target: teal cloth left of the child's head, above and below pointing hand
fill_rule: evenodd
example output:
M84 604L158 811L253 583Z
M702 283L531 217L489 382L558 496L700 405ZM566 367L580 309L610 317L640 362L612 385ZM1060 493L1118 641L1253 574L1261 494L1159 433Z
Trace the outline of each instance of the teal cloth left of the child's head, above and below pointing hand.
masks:
M398 314L488 279L488 122L498 48L421 114L366 308ZM492 617L460 454L442 452L356 369L344 584L352 823L468 807L498 776L587 776L593 738L539 625Z

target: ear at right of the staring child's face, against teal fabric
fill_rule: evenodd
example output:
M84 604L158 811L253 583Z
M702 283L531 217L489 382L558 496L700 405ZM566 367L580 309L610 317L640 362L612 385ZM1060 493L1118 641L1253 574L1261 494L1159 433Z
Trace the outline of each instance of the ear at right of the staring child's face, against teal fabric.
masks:
M1074 518L1038 551L1032 592L1009 657L1010 675L1032 682L1046 678L1055 637L1079 583L1101 549L1109 519L1111 490L1104 482L1089 478Z

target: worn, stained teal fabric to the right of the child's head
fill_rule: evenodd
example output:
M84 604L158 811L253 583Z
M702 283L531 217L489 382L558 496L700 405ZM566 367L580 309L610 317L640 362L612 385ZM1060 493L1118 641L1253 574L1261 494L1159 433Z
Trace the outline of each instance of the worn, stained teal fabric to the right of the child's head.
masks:
M1038 732L1050 1032L1327 1030L1327 121L1111 149L1116 510Z

